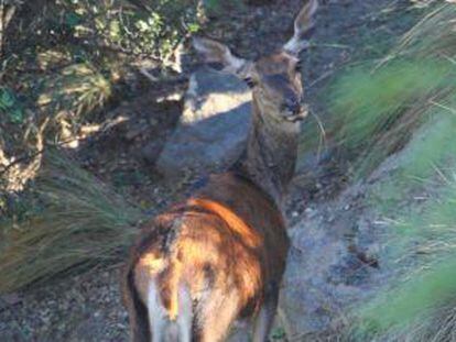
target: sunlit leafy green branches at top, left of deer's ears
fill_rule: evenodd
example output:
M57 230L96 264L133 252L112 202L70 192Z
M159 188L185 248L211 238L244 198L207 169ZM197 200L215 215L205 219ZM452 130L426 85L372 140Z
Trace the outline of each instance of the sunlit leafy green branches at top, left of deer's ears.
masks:
M134 55L166 58L187 33L199 29L195 0L65 0L61 5L62 24L74 37L100 40Z

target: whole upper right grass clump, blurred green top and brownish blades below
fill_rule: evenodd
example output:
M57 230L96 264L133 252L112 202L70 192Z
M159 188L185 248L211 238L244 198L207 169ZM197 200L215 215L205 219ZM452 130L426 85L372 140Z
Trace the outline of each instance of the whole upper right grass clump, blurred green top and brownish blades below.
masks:
M334 84L332 111L339 113L335 144L357 155L366 176L402 147L427 120L432 101L446 101L456 69L438 59L390 62L372 71L358 68ZM431 101L432 100L432 101Z

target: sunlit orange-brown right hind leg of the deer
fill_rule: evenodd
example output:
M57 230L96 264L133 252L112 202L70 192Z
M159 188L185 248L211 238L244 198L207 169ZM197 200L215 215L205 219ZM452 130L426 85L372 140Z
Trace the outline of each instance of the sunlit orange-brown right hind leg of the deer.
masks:
M220 342L229 333L239 315L239 296L236 291L211 290L203 302L196 320L198 342Z

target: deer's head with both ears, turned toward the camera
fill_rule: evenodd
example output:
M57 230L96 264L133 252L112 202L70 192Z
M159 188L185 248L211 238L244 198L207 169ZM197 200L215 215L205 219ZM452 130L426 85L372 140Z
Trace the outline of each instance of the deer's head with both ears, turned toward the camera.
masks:
M206 63L220 65L222 71L252 88L253 108L263 119L295 123L306 117L298 54L308 47L317 7L317 0L308 0L294 22L293 37L274 54L256 62L237 57L226 45L207 38L194 38L194 47Z

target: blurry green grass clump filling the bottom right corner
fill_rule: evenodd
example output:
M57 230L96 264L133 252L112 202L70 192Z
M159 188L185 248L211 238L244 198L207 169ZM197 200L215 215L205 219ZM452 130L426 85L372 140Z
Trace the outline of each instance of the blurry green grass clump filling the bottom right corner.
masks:
M439 170L439 176L437 195L390 225L389 266L398 276L357 310L356 330L363 339L455 338L456 172L444 176Z

